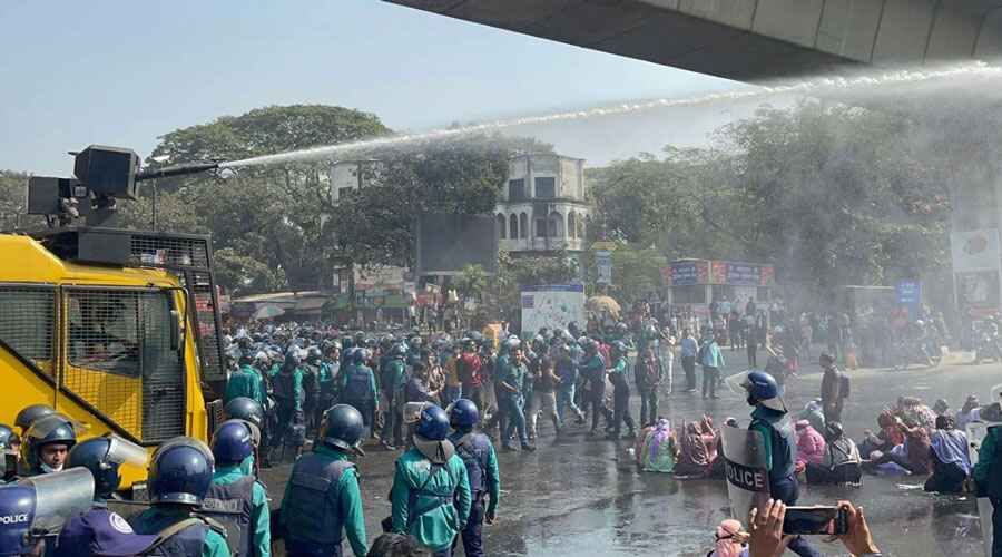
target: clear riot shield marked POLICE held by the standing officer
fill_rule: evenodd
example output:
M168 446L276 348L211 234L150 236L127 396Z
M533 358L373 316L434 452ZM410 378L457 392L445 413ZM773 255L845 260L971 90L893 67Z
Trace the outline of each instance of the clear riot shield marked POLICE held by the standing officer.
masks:
M753 508L769 500L769 472L766 468L765 439L758 431L724 426L724 471L730 516L746 522Z

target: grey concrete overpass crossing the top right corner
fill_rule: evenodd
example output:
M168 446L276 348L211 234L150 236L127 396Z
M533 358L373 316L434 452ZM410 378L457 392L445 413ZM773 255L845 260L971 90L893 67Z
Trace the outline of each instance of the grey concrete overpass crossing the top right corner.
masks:
M740 81L1002 56L1002 1L384 1Z

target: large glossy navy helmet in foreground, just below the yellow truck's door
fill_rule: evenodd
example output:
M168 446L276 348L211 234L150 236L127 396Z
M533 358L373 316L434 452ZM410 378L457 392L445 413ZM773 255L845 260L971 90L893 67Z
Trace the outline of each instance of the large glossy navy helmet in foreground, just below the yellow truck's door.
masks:
M213 482L213 452L204 442L176 437L161 444L149 466L149 501L157 504L202 505Z

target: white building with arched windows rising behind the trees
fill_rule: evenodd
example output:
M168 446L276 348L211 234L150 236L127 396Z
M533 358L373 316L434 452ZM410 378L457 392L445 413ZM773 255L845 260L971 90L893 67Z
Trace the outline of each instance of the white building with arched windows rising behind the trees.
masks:
M498 245L514 256L581 252L587 247L584 226L590 214L583 159L513 157L494 209Z

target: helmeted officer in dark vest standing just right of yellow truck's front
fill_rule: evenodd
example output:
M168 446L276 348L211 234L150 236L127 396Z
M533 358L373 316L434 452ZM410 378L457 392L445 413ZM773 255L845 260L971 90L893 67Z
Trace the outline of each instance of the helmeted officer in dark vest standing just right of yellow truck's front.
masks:
M284 460L286 452L291 452L293 457L297 456L306 440L306 422L303 414L306 393L303 390L303 370L299 369L296 346L289 348L282 369L272 379L272 388L277 407L272 450L281 447L279 459Z

